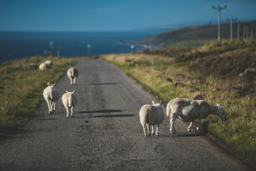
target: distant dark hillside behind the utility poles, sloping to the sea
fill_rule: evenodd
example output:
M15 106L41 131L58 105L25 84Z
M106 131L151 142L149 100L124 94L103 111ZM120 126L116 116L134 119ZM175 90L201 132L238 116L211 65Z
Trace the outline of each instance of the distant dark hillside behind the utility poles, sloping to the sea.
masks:
M246 22L249 28L256 29L256 21ZM240 38L243 38L244 24L240 24ZM250 33L250 30L249 30ZM250 34L249 34L250 37ZM183 44L196 45L198 42L210 41L217 39L217 25L212 26L192 26L170 30L156 36L150 36L142 40L136 41L136 43L148 44L149 39L152 39L153 44L165 43L173 44L177 42L183 42ZM230 38L230 24L221 24L221 38ZM233 24L233 38L237 38L237 24ZM200 45L199 44L199 45Z

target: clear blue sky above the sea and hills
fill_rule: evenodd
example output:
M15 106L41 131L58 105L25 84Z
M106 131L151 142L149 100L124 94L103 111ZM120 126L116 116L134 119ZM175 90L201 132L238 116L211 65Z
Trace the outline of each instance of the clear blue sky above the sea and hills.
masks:
M256 19L255 0L0 0L0 31L131 31L217 20Z

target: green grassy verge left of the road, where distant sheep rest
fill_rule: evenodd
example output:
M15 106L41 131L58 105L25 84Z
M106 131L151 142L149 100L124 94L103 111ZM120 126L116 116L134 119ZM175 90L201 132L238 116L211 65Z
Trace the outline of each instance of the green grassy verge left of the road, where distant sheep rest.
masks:
M45 60L53 62L53 68L33 69ZM63 75L64 70L74 65L72 58L33 56L0 64L0 143L6 143L6 133L22 128L33 115L43 99L47 82L53 84Z

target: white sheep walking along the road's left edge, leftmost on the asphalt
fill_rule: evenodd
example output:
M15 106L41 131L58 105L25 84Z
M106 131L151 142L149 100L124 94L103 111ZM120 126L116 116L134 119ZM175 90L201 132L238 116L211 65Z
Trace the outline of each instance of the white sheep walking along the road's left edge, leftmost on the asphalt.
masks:
M49 114L51 115L53 112L55 112L55 105L56 102L59 100L60 94L59 91L55 88L56 82L55 84L51 85L48 82L47 85L48 87L45 88L43 96L48 104Z

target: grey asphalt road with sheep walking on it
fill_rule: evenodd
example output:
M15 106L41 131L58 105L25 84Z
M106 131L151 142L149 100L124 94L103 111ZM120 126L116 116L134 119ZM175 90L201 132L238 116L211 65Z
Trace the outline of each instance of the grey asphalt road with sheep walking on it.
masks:
M77 69L77 85L71 86L66 74L56 85L61 96L75 89L74 117L66 118L61 99L53 115L43 101L24 130L0 146L1 171L248 170L201 133L187 132L188 125L182 122L177 121L177 133L170 134L166 115L160 136L145 138L139 111L157 100L100 59L78 60Z

